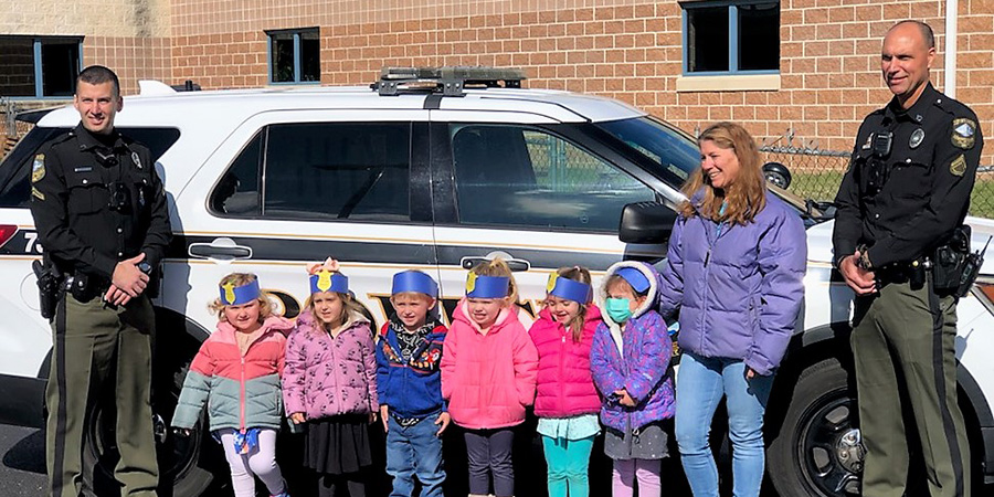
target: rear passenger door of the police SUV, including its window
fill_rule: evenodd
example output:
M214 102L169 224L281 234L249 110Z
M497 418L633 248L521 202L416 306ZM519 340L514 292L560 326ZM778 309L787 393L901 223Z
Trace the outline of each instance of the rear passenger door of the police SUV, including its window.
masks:
M306 266L341 262L378 324L401 269L436 275L426 178L426 113L263 113L240 126L177 199L183 220L182 292L166 305L213 328L207 304L228 273L250 272L297 316L309 296Z

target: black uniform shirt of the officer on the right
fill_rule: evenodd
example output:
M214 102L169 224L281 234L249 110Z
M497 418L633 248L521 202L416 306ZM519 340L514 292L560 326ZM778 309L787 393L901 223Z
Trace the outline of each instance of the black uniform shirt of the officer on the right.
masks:
M874 134L891 131L882 158L887 179L874 178ZM929 83L911 108L897 98L859 126L849 170L835 199L835 262L869 246L874 267L911 262L944 242L963 223L983 149L976 115Z

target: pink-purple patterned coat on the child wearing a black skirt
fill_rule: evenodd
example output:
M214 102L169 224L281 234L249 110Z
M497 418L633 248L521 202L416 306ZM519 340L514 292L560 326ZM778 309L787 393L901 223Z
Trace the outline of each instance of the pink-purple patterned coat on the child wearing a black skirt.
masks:
M377 357L369 321L349 317L337 337L325 332L310 308L286 340L283 399L287 415L308 420L377 412Z

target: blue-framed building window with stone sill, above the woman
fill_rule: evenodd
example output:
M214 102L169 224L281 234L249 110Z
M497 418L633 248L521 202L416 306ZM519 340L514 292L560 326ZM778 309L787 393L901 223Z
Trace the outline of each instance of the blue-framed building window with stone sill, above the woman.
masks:
M780 2L692 1L684 11L684 74L780 71Z

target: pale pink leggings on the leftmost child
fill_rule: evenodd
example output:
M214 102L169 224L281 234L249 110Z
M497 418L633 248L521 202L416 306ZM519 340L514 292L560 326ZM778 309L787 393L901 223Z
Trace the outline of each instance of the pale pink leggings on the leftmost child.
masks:
M231 466L231 487L235 497L255 497L255 477L266 485L269 495L284 491L283 474L276 464L276 431L263 429L258 434L258 447L248 454L237 454L234 450L235 430L222 429L221 445L224 457Z

